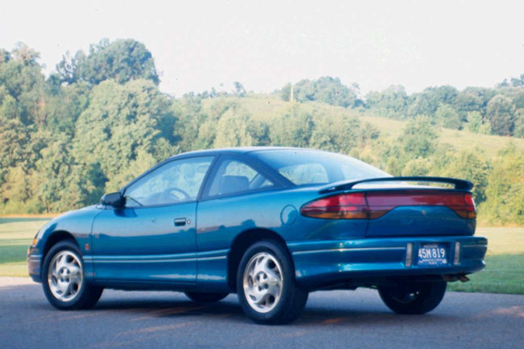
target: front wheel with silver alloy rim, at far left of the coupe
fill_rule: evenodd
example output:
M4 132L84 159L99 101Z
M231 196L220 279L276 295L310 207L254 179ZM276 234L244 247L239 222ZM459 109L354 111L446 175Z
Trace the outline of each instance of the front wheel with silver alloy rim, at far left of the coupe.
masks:
M65 240L51 247L42 268L42 288L49 303L61 310L93 307L104 289L87 283L84 274L77 244Z

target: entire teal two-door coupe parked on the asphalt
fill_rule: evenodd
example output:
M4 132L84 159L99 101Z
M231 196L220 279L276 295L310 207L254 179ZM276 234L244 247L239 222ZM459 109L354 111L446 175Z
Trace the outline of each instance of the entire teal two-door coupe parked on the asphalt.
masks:
M472 188L320 150L187 152L48 222L29 275L64 310L94 306L104 288L237 293L249 318L274 324L296 319L311 291L370 287L421 314L484 267Z

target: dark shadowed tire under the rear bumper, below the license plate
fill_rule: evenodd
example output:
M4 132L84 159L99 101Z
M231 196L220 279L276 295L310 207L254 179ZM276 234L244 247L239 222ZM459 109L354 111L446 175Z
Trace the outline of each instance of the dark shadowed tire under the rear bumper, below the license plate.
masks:
M447 282L412 282L398 287L379 287L386 306L398 314L424 314L435 309L446 292Z

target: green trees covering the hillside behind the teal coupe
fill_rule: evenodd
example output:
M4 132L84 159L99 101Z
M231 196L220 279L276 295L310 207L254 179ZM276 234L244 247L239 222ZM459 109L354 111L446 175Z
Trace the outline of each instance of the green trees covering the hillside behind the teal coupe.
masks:
M260 120L243 103L253 93L240 82L230 92L162 93L152 54L132 39L104 39L89 52L67 52L48 77L39 53L19 43L0 49L0 214L96 203L182 151L281 145L349 154L396 175L472 180L488 220L524 224L521 149L509 146L486 159L480 151L438 142L438 126L523 137L523 79L493 89L439 86L410 95L391 86L365 96L357 84L337 78L302 80L272 93L287 101L293 91L294 102ZM306 108L309 102L344 109L330 114ZM390 142L358 113L408 123Z

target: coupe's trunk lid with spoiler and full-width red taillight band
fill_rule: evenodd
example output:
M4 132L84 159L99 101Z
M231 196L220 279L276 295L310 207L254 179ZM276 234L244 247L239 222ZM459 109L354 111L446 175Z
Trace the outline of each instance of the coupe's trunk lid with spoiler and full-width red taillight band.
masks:
M451 184L451 188L409 183ZM388 177L333 183L301 213L323 219L367 220L366 236L473 235L473 184L440 177Z

